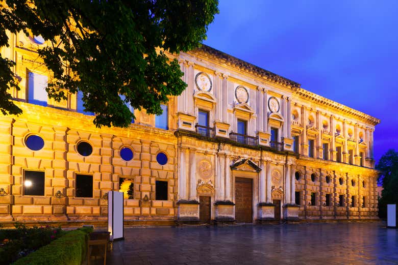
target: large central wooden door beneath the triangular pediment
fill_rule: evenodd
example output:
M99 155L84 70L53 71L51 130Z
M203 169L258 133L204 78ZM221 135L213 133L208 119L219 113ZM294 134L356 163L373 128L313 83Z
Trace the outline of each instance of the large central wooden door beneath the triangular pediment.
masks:
M235 219L237 222L253 222L253 179L235 179Z

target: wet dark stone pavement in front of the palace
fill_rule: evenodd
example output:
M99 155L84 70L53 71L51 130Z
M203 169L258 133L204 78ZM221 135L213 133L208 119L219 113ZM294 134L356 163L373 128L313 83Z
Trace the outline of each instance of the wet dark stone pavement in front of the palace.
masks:
M107 264L398 264L398 230L383 225L126 228Z

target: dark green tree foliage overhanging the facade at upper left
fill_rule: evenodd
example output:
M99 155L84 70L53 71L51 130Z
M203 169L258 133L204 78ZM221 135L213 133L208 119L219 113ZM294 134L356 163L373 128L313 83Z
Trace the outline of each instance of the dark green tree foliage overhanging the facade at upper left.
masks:
M126 127L134 114L125 104L161 114L160 104L183 92L183 73L166 52L198 47L217 5L218 0L6 0L0 2L0 47L8 45L6 30L41 35L50 45L39 55L54 73L49 98L60 101L80 90L97 127ZM0 56L3 114L21 113L7 93L18 89L14 64Z

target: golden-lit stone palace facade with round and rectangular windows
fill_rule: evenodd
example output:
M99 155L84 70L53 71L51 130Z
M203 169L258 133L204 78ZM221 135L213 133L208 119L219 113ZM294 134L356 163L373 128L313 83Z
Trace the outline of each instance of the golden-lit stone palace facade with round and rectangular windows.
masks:
M208 46L178 56L187 89L127 129L81 95L47 98L40 37L10 35L23 110L0 116L0 222L128 224L378 219L375 117ZM170 57L174 55L170 54Z

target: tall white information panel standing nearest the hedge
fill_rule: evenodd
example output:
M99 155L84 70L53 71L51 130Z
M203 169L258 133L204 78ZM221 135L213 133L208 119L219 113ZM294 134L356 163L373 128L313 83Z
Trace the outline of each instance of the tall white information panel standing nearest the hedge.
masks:
M123 192L108 191L108 231L111 240L124 239Z

